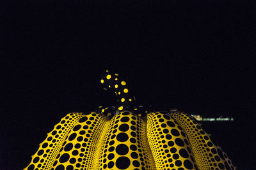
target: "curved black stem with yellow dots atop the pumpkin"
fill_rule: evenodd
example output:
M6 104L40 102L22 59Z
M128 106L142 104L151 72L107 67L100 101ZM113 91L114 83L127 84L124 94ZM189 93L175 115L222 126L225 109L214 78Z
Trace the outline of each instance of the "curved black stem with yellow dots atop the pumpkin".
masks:
M113 90L117 97L118 105L120 106L118 110L122 110L122 106L130 108L132 103L135 101L135 97L131 96L131 92L127 88L127 83L119 76L119 74L112 73L106 70L101 78L100 83L104 90Z

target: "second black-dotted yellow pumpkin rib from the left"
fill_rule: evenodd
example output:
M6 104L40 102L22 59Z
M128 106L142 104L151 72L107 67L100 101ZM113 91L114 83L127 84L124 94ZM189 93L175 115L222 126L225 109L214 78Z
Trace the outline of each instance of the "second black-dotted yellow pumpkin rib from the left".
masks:
M93 169L95 155L100 148L97 144L106 121L95 113L84 115L70 131L52 169Z

